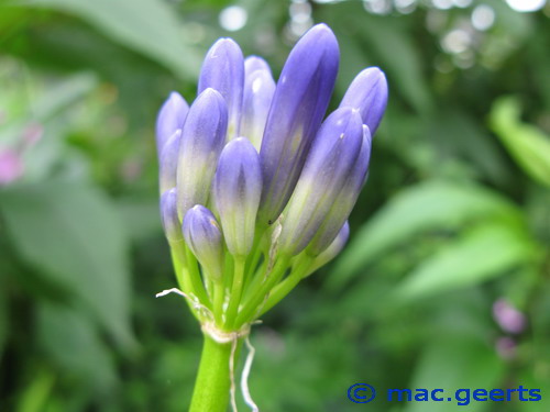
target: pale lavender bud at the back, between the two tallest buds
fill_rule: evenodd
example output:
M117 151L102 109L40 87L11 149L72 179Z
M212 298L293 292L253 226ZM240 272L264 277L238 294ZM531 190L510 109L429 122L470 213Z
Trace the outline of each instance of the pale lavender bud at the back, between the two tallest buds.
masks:
M275 81L268 69L246 73L244 78L241 135L249 138L260 151L265 121L275 92Z

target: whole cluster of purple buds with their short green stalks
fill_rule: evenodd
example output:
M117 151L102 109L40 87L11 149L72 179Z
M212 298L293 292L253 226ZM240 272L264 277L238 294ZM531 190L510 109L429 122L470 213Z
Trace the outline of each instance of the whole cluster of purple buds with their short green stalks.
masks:
M265 60L221 38L193 104L173 92L162 107L162 221L201 323L239 331L343 248L387 83L364 69L323 121L338 66L324 24L297 42L277 83Z

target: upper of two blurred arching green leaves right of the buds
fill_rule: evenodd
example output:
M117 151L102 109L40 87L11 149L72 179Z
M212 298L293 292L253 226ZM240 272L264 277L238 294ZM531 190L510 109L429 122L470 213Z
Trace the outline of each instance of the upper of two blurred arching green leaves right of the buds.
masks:
M328 287L342 287L388 248L422 232L457 229L471 220L497 215L519 220L504 198L476 186L429 181L405 189L352 234Z

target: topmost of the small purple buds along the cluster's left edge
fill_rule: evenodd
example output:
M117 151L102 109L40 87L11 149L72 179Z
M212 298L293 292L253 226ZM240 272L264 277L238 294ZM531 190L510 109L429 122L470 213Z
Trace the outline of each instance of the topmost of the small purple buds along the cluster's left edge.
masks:
M173 91L156 116L156 151L161 158L163 147L170 136L184 126L189 105L182 94Z

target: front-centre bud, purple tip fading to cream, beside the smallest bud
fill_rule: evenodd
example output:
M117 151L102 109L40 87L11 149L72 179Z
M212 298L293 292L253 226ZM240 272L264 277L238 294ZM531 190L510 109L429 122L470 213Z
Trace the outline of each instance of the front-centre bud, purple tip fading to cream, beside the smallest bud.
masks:
M254 242L262 171L256 149L244 137L229 142L213 179L213 199L229 252L246 256Z

